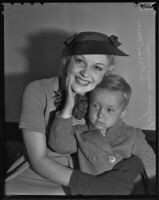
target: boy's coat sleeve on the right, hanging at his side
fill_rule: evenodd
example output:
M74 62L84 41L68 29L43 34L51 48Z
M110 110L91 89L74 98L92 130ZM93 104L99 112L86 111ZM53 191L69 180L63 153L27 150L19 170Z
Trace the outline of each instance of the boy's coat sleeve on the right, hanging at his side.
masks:
M133 146L133 154L138 156L145 167L148 177L156 175L156 155L151 146L146 141L144 133L137 129L136 139Z

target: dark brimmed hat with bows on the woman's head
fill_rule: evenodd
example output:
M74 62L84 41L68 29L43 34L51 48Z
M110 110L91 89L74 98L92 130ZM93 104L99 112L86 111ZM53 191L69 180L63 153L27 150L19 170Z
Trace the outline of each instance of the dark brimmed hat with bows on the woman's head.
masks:
M118 46L121 43L115 35L107 36L99 32L80 32L74 34L66 41L62 57L70 55L105 54L115 56L128 56Z

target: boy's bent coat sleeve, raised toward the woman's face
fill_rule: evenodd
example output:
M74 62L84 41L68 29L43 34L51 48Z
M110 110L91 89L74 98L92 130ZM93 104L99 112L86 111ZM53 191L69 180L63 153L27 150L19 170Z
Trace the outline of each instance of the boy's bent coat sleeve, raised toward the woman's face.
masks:
M72 118L61 118L56 113L51 125L49 146L61 154L72 154L77 151Z

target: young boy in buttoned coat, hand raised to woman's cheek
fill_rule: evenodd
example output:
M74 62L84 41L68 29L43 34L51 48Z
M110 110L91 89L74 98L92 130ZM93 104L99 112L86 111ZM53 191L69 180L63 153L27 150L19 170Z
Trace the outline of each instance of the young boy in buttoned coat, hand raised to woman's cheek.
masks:
M139 157L148 177L155 176L155 153L141 129L122 121L131 87L119 75L109 74L90 92L88 122L72 126L74 98L68 81L67 101L51 127L49 145L59 153L78 151L80 169L98 175L132 155Z

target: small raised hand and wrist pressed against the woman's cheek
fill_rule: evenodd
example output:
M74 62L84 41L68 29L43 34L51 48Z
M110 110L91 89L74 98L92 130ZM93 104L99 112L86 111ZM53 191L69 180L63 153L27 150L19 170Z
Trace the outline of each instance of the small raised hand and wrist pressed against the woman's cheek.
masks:
M66 78L66 102L65 106L60 114L62 118L69 118L72 116L72 111L75 105L75 95L76 93L72 90L73 75L68 74Z

